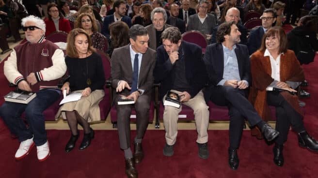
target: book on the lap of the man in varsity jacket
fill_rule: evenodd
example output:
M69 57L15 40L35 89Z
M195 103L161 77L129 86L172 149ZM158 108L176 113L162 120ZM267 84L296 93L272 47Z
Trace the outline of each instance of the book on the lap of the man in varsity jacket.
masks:
M4 96L4 100L7 102L28 104L34 97L36 93L23 91L23 90L13 90Z

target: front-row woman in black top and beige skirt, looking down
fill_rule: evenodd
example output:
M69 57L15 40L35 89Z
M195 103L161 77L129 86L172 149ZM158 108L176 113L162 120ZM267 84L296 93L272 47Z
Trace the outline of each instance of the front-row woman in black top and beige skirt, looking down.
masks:
M83 127L84 137L79 150L87 148L94 138L89 122L100 120L98 103L104 98L105 75L101 57L95 52L92 41L85 30L74 29L67 36L65 63L70 78L62 91L67 94L79 93L79 101L63 104L56 118L62 114L67 119L71 137L65 146L70 152L79 138L78 123Z

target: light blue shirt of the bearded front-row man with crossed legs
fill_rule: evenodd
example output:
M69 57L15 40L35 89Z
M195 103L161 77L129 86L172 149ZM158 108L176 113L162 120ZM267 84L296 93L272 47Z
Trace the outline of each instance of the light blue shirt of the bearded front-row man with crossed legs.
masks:
M224 69L223 69L223 79L218 83L218 85L223 86L226 80L238 80L241 78L239 76L239 63L238 58L235 54L236 44L234 44L232 50L229 50L223 44L223 58L224 58ZM248 82L243 80L247 85Z

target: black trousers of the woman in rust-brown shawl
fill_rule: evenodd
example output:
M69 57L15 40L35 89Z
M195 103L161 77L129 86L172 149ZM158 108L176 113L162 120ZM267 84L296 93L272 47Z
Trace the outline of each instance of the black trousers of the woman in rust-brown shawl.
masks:
M267 104L276 108L276 131L279 132L275 140L277 144L283 145L286 142L290 125L297 133L305 130L302 116L288 104L281 94L267 92Z

